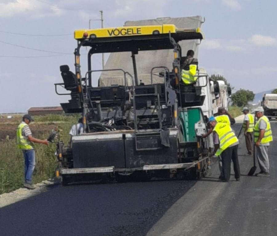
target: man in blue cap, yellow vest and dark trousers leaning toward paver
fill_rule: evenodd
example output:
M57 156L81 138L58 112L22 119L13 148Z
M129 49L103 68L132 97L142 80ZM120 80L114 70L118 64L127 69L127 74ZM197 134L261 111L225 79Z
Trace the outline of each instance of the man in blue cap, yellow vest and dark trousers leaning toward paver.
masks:
M229 182L231 173L231 161L233 161L235 179L239 181L240 169L238 159L238 146L239 139L235 135L235 132L231 129L231 126L226 123L219 123L215 117L210 117L210 126L213 128L214 137L214 153L213 155L221 156L222 159L222 171L223 182Z

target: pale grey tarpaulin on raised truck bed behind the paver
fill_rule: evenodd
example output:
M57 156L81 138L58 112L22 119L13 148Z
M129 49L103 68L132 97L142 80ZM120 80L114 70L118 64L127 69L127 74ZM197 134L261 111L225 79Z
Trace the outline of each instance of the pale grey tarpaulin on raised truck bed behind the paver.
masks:
M178 29L195 29L202 24L201 16L179 17L179 18L157 18L151 20L126 21L125 26L144 26L144 25L162 25L174 24ZM182 56L186 56L187 50L195 51L195 58L198 56L199 40L183 40L179 42L182 48ZM151 69L156 66L166 66L172 70L174 60L173 49L139 51L136 56L136 65L138 80L145 84L151 84ZM134 68L131 58L131 52L111 53L104 69L123 69L134 76ZM130 78L126 80L127 85L131 86ZM153 76L153 83L161 83L163 78ZM124 76L120 71L103 71L99 78L100 86L124 85Z

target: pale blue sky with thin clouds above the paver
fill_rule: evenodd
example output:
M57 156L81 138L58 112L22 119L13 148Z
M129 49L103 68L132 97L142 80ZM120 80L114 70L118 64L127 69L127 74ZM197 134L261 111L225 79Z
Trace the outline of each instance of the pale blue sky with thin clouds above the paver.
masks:
M53 84L62 82L59 66L68 64L74 71L73 32L88 28L89 19L99 19L99 10L104 11L105 27L122 26L127 20L201 15L206 38L199 66L208 74L222 74L235 89L271 90L277 87L276 8L275 0L0 0L0 113L58 106L68 99L54 91ZM98 59L95 69L101 69Z

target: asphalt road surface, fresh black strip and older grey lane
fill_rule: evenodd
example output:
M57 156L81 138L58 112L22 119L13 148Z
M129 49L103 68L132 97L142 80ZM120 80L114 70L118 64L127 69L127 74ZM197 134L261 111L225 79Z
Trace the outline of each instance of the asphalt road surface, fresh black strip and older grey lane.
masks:
M275 236L277 123L271 128L269 178L247 176L253 158L243 156L241 135L240 182L234 175L229 183L217 182L214 164L213 174L199 181L56 186L0 208L0 235Z

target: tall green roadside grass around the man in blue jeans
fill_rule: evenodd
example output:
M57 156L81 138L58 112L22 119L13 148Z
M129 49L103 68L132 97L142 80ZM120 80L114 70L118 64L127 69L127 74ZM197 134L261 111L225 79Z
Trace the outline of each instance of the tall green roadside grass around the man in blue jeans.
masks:
M54 127L61 131L60 137L65 144L69 142L69 130L77 122L78 116L46 115L34 116L35 122L30 129L35 138L46 139ZM20 120L18 120L19 122ZM12 132L16 132L17 125ZM5 129L5 126L2 129ZM10 136L11 137L11 136ZM13 136L14 137L14 136ZM0 194L13 191L22 187L24 182L24 158L21 150L18 150L16 138L6 138L0 141ZM54 177L57 167L57 158L54 155L56 144L35 144L36 167L33 174L33 182L38 183Z

